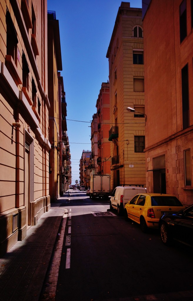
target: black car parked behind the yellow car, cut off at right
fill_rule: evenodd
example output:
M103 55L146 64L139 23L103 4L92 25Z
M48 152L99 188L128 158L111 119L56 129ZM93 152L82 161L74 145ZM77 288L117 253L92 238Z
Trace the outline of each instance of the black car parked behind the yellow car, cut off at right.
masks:
M174 239L193 247L193 205L177 213L163 215L159 228L165 245L169 245Z

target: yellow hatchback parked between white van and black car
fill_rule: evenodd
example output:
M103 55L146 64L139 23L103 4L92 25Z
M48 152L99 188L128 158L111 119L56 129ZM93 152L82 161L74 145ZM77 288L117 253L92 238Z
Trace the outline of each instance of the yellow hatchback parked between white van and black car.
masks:
M125 219L140 224L143 232L148 228L158 228L160 217L183 210L182 203L170 194L144 193L137 194L124 209Z

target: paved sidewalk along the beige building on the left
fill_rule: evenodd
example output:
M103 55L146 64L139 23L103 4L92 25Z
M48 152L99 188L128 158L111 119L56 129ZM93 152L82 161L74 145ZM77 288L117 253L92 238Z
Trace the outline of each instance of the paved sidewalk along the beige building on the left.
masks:
M18 241L0 258L1 301L39 300L61 221L63 216L67 216L66 213L67 209L52 204L38 224L29 228L25 239Z

